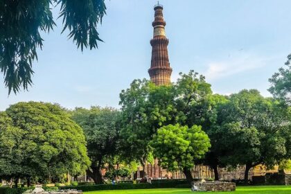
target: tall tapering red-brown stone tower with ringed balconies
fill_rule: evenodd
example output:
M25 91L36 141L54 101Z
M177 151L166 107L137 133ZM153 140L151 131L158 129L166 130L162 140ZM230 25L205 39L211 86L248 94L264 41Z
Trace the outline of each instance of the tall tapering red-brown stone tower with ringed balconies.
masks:
M156 85L169 85L172 68L168 58L168 43L166 37L166 21L163 16L163 6L159 3L155 6L155 21L152 22L154 27L154 37L150 41L152 45L152 61L148 73L150 80Z

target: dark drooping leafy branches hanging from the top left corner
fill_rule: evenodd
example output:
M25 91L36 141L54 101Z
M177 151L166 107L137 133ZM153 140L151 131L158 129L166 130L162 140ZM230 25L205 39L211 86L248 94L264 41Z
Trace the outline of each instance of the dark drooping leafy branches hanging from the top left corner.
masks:
M4 83L15 93L32 84L32 64L37 59L37 48L42 48L40 33L55 26L51 8L60 3L63 32L83 50L97 47L102 41L97 24L105 15L105 0L1 0L0 1L0 71Z

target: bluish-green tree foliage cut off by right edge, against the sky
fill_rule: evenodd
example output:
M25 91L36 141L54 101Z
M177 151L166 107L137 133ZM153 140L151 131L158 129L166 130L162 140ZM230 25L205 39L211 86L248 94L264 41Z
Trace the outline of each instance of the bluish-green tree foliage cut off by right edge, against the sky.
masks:
M288 60L285 62L286 68L279 69L279 73L274 73L269 79L271 87L269 91L275 98L284 100L288 105L291 104L291 54L288 55Z

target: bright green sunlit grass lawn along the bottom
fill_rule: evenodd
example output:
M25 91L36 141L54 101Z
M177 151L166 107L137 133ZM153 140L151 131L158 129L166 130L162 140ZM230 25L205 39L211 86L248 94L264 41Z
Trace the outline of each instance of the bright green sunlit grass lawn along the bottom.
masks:
M185 188L161 188L161 189L142 189L142 190L120 190L120 191L91 191L85 192L85 194L187 194L193 193L190 189ZM196 192L200 194L209 192ZM218 193L236 193L236 194L291 194L291 186L238 186L236 192L218 192ZM217 193L217 194L218 194ZM215 193L216 194L216 193Z

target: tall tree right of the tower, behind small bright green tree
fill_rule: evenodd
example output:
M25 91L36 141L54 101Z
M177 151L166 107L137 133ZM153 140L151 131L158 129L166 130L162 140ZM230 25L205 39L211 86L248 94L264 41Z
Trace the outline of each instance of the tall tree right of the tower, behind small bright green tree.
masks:
M188 74L180 73L175 84L175 108L179 112L177 121L181 125L201 125L202 130L211 139L211 148L206 157L195 161L195 164L209 165L214 169L215 179L218 180L218 166L222 167L219 157L223 155L220 136L215 134L215 123L218 117L218 107L227 102L227 98L212 94L211 85L205 81L204 76L190 71ZM190 172L188 172L190 173Z

